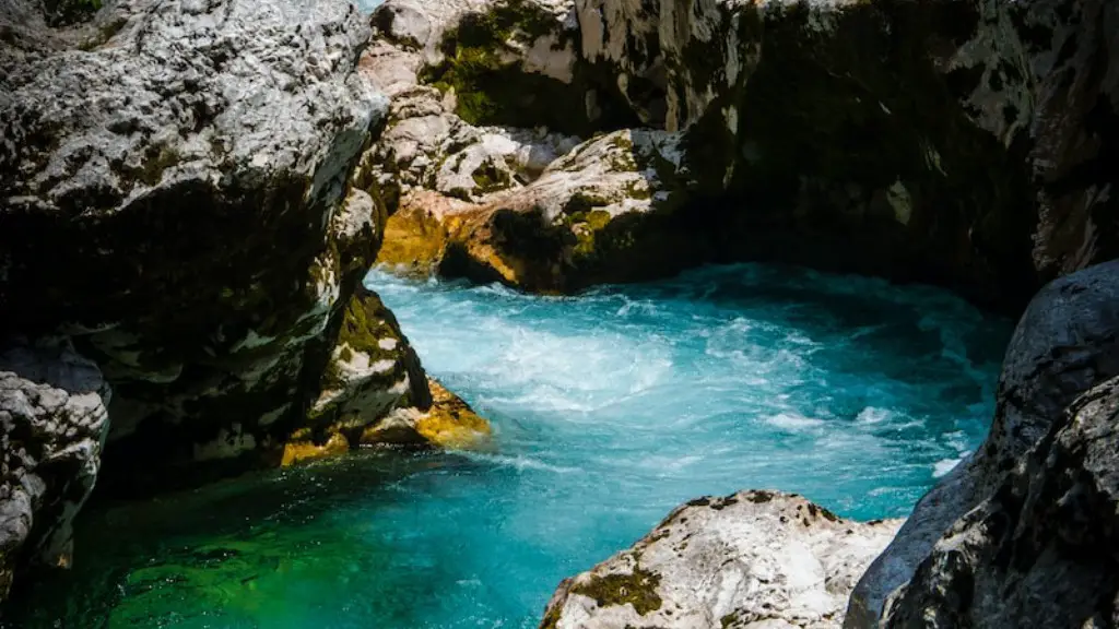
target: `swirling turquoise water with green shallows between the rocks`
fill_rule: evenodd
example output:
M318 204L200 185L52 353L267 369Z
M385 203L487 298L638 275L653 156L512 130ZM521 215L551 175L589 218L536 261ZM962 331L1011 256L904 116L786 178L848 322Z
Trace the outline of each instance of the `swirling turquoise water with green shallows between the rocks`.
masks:
M367 283L495 452L364 452L96 509L20 626L535 627L562 578L699 495L905 515L981 441L1010 332L935 289L759 265L577 298Z

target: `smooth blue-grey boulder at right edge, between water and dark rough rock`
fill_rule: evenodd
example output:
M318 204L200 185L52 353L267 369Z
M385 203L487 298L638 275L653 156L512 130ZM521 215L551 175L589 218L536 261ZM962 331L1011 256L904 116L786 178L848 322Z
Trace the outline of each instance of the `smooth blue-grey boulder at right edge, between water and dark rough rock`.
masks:
M847 627L874 626L886 597L944 544L952 523L1003 491L1006 473L1078 395L1117 375L1119 261L1052 282L1031 302L1006 354L987 441L921 499L871 565L852 597Z

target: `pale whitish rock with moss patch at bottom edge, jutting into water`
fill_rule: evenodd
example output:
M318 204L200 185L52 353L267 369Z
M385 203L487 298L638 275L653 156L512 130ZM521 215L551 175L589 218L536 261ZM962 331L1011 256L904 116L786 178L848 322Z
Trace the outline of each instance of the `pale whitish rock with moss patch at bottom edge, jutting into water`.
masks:
M839 627L855 581L900 524L845 520L769 491L693 500L564 581L540 628Z

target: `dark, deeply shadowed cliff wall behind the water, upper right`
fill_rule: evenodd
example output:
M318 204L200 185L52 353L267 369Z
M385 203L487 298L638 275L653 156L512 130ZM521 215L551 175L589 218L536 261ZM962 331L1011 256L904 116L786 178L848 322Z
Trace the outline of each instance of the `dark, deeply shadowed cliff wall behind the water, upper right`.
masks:
M1113 3L576 6L583 54L664 77L700 190L742 199L728 255L1013 303L1119 254Z

